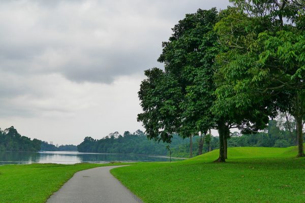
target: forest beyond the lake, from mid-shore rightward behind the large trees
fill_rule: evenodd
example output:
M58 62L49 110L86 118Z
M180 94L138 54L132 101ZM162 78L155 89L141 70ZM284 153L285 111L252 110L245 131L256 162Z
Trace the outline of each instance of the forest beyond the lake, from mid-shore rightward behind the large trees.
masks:
M289 126L289 127L288 127ZM190 157L190 138L183 139L178 134L172 134L170 144L154 142L141 130L125 131L123 135L117 131L96 140L86 137L77 146L79 152L94 153L133 153L147 155L171 155L173 157ZM219 137L206 134L202 139L202 153L219 149ZM192 155L200 154L201 138L192 137ZM228 147L289 147L296 145L295 122L288 122L283 118L269 120L266 129L258 133L241 134L237 131L230 133Z

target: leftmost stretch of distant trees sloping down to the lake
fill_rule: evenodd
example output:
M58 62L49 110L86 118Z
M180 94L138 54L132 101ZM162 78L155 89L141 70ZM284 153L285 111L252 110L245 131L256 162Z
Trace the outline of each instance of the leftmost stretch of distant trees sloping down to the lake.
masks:
M0 151L77 151L75 145L62 145L56 147L47 142L21 136L18 131L11 126L5 130L0 128Z

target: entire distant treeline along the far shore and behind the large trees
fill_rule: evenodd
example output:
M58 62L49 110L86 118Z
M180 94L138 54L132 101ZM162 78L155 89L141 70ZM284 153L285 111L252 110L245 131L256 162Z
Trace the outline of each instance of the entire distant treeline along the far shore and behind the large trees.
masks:
M206 139L209 138L209 139ZM228 147L289 147L296 145L296 127L294 121L287 123L270 120L268 128L256 134L239 134L233 132L228 139ZM199 154L200 138L194 136L193 154ZM169 155L168 144L148 140L141 130L136 132L125 131L110 133L105 138L95 140L86 137L77 147L75 145L55 146L37 139L21 136L12 126L5 130L0 129L0 151L79 151L95 153L133 153L149 155ZM170 146L172 156L189 157L190 139L182 139L173 134ZM202 153L219 148L219 137L205 136L203 138Z

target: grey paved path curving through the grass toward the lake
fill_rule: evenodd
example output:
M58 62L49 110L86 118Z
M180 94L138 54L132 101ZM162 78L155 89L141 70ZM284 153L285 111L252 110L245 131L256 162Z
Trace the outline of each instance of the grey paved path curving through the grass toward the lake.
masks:
M142 202L110 170L121 166L103 166L77 172L47 203L137 203Z

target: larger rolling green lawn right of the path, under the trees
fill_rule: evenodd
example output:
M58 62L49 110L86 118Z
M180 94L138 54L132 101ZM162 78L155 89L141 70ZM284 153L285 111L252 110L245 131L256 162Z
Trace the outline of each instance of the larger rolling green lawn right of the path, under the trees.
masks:
M236 147L173 163L140 163L111 173L144 202L305 202L305 159L296 147Z

